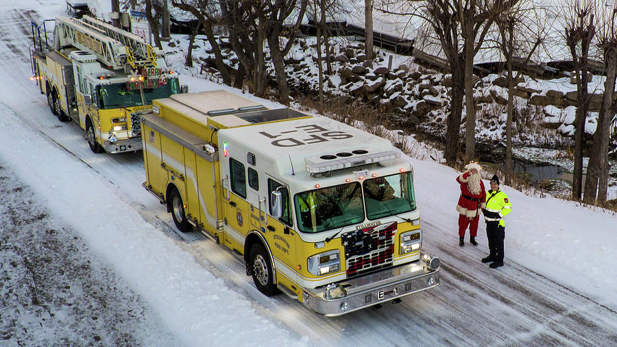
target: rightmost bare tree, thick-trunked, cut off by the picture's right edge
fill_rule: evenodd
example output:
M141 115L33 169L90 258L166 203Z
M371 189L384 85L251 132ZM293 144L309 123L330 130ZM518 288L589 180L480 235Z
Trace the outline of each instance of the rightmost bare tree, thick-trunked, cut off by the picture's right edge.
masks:
M617 1L613 0L605 6L598 6L594 9L598 18L596 46L603 56L606 81L600 115L594 134L594 144L587 165L583 202L588 204L604 204L606 202L609 170L609 127L614 113L613 104L617 72Z

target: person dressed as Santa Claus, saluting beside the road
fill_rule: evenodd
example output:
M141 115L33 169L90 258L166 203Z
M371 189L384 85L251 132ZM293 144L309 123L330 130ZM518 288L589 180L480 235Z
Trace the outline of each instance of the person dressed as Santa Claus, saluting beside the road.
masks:
M486 204L486 190L480 177L482 168L477 163L465 165L465 171L457 177L461 184L461 196L457 211L459 211L459 246L465 246L465 230L469 227L469 242L478 246L476 235L478 234L478 222L480 211Z

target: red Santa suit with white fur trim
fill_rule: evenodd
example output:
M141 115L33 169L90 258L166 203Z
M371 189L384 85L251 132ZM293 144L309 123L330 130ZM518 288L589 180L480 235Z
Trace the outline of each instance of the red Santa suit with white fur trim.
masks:
M480 209L484 208L486 204L484 183L480 180L480 192L474 194L468 187L470 176L471 173L465 171L457 177L457 182L461 184L461 196L459 197L459 204L457 204L457 211L459 211L459 237L465 237L465 230L467 230L468 226L469 235L476 237Z

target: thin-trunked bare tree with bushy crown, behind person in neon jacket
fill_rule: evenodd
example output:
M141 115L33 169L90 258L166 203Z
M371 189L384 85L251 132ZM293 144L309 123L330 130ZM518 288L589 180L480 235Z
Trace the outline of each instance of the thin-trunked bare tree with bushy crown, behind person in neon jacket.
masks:
M506 79L508 85L507 120L506 120L506 155L505 155L505 184L512 182L512 121L514 106L514 81L518 80L521 70L513 74L514 59L527 56L522 64L527 64L531 56L540 46L546 36L547 23L545 18L538 15L533 1L519 1L513 6L505 8L497 6L491 12L496 23L497 32L494 41L505 58Z

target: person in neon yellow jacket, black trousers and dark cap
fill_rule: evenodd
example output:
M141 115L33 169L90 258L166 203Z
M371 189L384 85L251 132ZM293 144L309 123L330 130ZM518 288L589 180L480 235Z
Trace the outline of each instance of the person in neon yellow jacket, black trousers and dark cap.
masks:
M512 212L512 204L508 195L499 190L499 178L491 178L491 189L486 193L486 206L482 211L486 222L486 237L489 243L489 256L482 259L483 263L492 261L492 269L503 266L503 239L505 239L506 215Z

